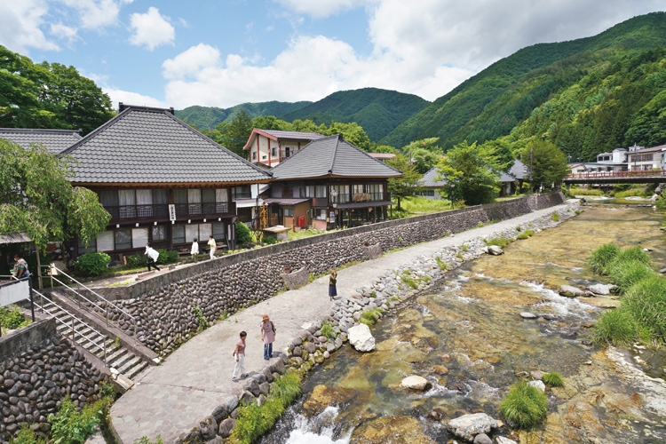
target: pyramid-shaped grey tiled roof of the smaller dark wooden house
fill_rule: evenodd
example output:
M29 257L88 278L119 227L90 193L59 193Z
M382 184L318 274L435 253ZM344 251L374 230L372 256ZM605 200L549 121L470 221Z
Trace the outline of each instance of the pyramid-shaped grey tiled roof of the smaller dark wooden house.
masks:
M275 166L274 179L293 178L397 178L402 176L387 164L370 157L341 134L316 139Z

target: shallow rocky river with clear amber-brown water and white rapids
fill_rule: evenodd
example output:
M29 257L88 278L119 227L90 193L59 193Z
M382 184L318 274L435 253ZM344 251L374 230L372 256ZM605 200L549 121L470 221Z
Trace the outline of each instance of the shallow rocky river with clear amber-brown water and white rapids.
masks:
M451 442L449 419L476 412L502 419L503 395L533 370L565 377L563 388L547 390L546 421L530 432L504 426L494 436L522 443L666 442L666 407L654 408L663 397L586 339L603 309L553 291L598 281L585 258L607 242L653 250L663 264L662 221L646 208L586 206L556 228L512 242L503 256L465 264L379 321L372 328L375 352L345 346L314 371L300 402L261 442ZM547 313L548 320L522 319L527 311ZM626 361L640 357L649 375L664 377L662 355L630 353ZM401 389L409 375L427 378L432 388Z

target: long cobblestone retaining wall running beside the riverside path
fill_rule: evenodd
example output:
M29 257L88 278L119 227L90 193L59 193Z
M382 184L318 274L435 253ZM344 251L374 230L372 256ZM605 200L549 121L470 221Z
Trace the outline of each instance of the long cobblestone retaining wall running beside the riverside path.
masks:
M281 279L284 266L294 270L305 268L308 274L326 274L332 268L365 260L366 242L379 245L383 251L394 250L561 202L564 202L561 193L527 196L283 242L115 289L115 298L139 319L139 341L165 355L196 333L199 320L194 307L212 322L273 297L284 289ZM132 333L129 322L120 313L111 318L121 329Z

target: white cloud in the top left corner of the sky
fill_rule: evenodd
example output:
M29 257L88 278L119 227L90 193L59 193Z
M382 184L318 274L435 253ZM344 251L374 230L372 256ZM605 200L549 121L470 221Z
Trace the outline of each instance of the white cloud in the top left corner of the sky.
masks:
M48 9L44 0L0 2L0 44L21 54L28 54L28 48L58 51L59 45L40 29Z

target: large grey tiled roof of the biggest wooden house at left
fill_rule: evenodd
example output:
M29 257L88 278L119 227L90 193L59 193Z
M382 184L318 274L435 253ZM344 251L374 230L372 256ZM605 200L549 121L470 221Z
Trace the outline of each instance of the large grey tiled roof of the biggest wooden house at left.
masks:
M268 182L260 170L176 118L172 111L121 104L121 112L68 148L81 184Z

